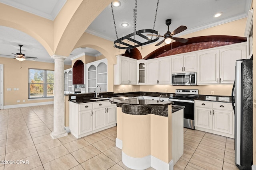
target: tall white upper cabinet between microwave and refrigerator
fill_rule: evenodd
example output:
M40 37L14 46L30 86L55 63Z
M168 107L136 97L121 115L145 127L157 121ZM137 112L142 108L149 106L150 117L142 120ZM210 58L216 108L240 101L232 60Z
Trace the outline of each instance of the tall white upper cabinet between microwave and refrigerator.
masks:
M198 84L232 84L236 60L246 59L246 43L198 53Z

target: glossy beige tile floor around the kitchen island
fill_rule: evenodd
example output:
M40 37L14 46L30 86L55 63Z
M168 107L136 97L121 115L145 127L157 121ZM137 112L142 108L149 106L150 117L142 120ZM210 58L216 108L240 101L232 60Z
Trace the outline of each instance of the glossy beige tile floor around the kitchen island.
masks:
M116 127L80 139L53 140L52 130L53 105L0 110L0 160L8 163L0 170L129 169L115 147ZM184 169L237 169L234 139L184 128L184 154L174 170Z

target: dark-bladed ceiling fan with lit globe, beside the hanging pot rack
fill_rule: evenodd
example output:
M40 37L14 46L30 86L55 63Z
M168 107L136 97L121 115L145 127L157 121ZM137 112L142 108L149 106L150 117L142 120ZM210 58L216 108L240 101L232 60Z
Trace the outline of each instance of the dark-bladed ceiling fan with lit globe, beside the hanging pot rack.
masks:
M168 26L168 31L164 35L156 35L156 36L159 36L159 37L164 37L164 39L162 41L160 41L159 43L157 43L155 46L158 46L158 45L162 44L164 41L165 41L166 44L170 44L172 42L172 39L175 40L175 41L178 41L180 43L188 42L188 39L185 39L185 38L172 37L173 35L178 34L182 31L186 30L187 27L184 26L184 25L181 25L178 28L176 28L174 31L172 31L172 33L171 33L169 31L169 25L171 23L172 23L171 19L167 19L165 21L165 24ZM148 34L148 36L152 36L152 34Z

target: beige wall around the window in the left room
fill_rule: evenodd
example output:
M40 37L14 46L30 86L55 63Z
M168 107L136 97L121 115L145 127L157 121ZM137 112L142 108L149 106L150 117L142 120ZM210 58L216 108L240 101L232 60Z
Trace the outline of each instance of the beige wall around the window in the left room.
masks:
M53 99L28 101L28 68L54 70L54 63L27 60L20 62L0 57L0 64L4 64L4 106L53 101ZM7 88L12 90L7 91ZM19 90L13 90L14 88L19 88ZM20 102L18 103L17 100Z

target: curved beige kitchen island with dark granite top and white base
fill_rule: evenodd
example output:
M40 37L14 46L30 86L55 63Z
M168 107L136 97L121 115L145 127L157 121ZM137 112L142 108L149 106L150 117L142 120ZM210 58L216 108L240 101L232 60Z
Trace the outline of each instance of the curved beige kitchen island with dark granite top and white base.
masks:
M117 107L116 147L132 169L171 170L183 154L183 109L173 102L110 98Z

